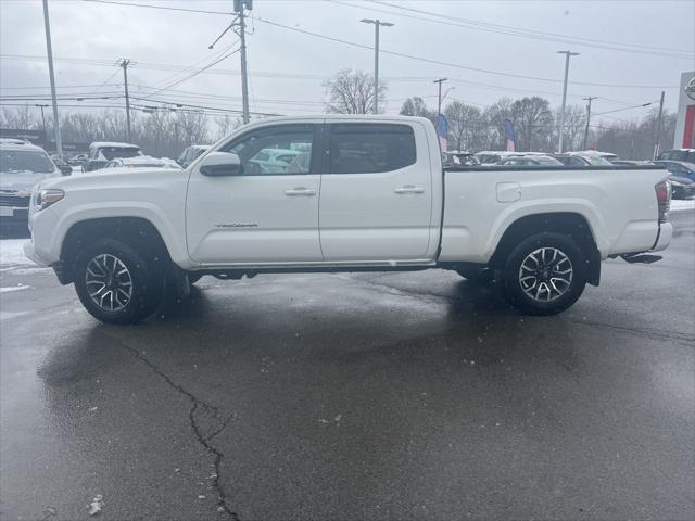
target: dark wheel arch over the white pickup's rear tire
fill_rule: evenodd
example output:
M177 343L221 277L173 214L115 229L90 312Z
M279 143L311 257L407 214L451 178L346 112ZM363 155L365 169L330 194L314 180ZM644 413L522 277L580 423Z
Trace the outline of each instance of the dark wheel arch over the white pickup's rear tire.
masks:
M586 255L586 281L598 285L601 282L601 252L591 224L581 214L573 212L552 212L532 214L511 223L502 234L490 265L502 267L514 247L527 237L535 233L563 233L569 236Z

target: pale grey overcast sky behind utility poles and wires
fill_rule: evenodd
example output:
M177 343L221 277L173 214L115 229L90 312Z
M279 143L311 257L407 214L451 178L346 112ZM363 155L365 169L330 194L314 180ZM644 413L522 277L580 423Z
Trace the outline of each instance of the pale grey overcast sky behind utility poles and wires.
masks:
M114 2L220 12L230 11L232 3ZM128 78L134 97L241 107L239 53L156 96L152 90L185 78L214 61L214 56L225 55L225 49L235 50L238 39L229 33L213 50L207 49L230 23L230 15L84 0L49 0L49 9L60 94L121 94L123 75L113 64L119 58L128 58L134 62ZM489 105L502 96L535 93L559 105L565 59L556 54L558 50L581 53L571 60L568 102L583 105L581 98L595 96L594 113L658 100L662 89L666 106L674 110L680 75L695 68L694 0L254 0L250 14L251 110L264 113L323 112L323 79L342 67L371 73L374 26L359 23L364 17L395 24L381 29L383 51L421 59L381 53L380 76L389 88L388 113L397 113L403 100L410 96L420 96L435 107L437 86L432 79L438 77L448 78L444 90L454 87L447 101ZM49 94L41 2L0 0L0 24L3 103L10 96ZM570 41L554 41L563 39ZM122 105L123 100L64 101L61 111L75 111L68 105L79 103ZM605 117L631 119L647 110L622 110Z

